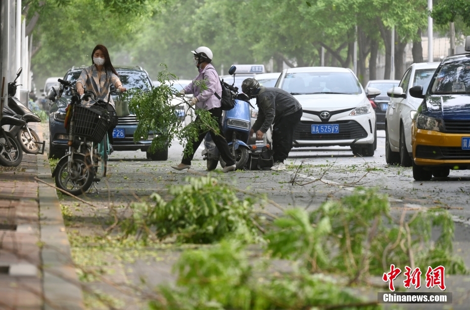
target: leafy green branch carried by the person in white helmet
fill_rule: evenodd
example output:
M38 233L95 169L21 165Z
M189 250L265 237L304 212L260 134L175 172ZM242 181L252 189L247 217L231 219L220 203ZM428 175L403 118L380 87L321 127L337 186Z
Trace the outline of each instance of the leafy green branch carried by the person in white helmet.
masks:
M167 69L166 65L162 65ZM173 83L177 79L168 70L163 70L158 73L157 80L160 85L154 87L152 91L135 90L127 95L132 96L129 108L135 111L135 116L139 121L134 132L134 141L137 142L142 140L142 137L148 137L149 131L157 134L152 140L151 152L171 146L171 141L177 138L183 145L183 154L187 155L193 151L193 141L198 139L200 132L212 130L217 134L220 133L217 121L211 117L208 111L203 109L195 111L196 121L184 126L176 112L178 106L172 104L175 94L178 93L173 87ZM202 89L207 88L204 80L198 82L197 86ZM188 113L190 109L192 108L188 108L185 113Z

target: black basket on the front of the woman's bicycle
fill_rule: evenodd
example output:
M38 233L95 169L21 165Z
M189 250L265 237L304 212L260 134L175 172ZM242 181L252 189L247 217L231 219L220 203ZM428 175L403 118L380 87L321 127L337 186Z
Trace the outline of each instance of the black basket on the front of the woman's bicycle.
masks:
M110 127L109 114L101 107L84 107L75 105L73 118L74 135L99 143Z

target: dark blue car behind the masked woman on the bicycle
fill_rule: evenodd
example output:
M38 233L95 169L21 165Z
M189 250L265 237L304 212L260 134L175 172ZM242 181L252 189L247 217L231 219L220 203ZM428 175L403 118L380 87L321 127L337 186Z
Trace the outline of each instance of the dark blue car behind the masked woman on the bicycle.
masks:
M64 76L64 80L75 83L80 76L84 67L72 68L67 71ZM147 71L140 67L115 67L119 78L128 90L131 88L140 88L143 91L148 91L153 87L152 81L147 74ZM114 86L111 86L111 90L114 90ZM70 103L71 93L70 90L64 90L61 86L58 90L57 98L50 102L49 109L49 157L60 158L65 155L67 150L68 136L64 128L65 109ZM118 100L117 96L113 96L113 99ZM134 143L134 131L137 128L137 119L135 115L119 117L118 124L113 132L113 148L115 151L136 151L141 150L147 152L147 158L152 160L167 160L168 149L157 152L155 154L149 153L149 147L154 138L153 132L149 132L148 137L142 137L141 141Z

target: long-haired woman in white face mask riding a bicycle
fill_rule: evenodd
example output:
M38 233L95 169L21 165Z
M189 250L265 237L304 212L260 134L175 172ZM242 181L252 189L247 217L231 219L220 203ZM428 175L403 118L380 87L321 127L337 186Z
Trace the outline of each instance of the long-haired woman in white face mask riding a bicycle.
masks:
M108 95L110 92L110 86L114 85L116 90L120 92L125 92L126 88L122 86L121 81L119 80L118 74L111 64L111 59L109 58L108 49L104 45L97 45L91 53L91 66L86 67L80 74L80 77L77 80L76 87L77 92L81 96L84 93L84 87L88 91L92 91L97 95L96 100L108 101ZM95 99L90 98L88 101L83 102L83 105L93 105L95 104ZM109 104L112 106L112 109L115 109L113 98L110 98ZM113 129L115 126L108 129L108 139L110 143L110 151L113 151L112 144L113 141Z

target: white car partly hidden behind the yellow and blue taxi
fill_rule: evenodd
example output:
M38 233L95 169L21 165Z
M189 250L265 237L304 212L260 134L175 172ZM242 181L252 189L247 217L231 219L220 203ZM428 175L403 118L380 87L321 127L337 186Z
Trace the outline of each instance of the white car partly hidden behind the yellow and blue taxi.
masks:
M385 160L388 164L411 167L411 122L422 99L409 96L409 89L416 85L427 89L438 66L438 62L412 64L398 86L387 91L392 97L387 104L385 125Z

